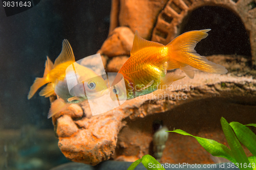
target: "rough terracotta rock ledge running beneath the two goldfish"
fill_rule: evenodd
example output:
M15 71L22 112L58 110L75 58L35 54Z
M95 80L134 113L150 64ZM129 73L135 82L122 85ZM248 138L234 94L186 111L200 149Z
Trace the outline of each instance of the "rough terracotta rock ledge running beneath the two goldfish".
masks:
M208 59L214 60L215 62L219 60L219 63L222 63L231 60L231 58L228 58L228 56L212 56ZM157 116L157 114L164 114L168 116L167 113L172 113L172 110L180 109L182 106L190 106L189 103L201 100L208 101L209 106L207 107L225 107L218 106L216 100L228 100L233 103L239 103L240 105L255 105L256 80L252 76L248 76L248 74L254 74L255 76L255 71L254 73L248 72L250 70L248 67L244 67L243 70L237 70L238 65L239 63L236 61L230 61L226 67L229 73L221 76L196 71L194 79L184 78L173 84L173 87L178 90L174 91L173 95L165 100L154 99L151 94L148 94L141 98L126 101L120 107L96 116L92 116L88 102L84 102L79 106L71 105L68 109L53 116L53 124L59 139L59 148L68 159L92 165L96 165L103 160L108 160L111 157L117 160L133 161L148 154L152 136L147 134L148 131L145 133L143 130L134 130L133 127L125 126L127 122L131 123L133 120L138 121L138 118L146 118L149 115ZM236 71L231 71L234 69ZM175 72L182 74L180 70L176 70ZM179 87L181 84L182 87ZM183 89L184 87L187 89ZM213 101L212 103L210 102L211 100ZM214 106L215 103L217 104L216 106ZM231 107L232 103L229 105L226 107ZM237 107L241 109L240 105ZM201 107L205 108L205 106ZM190 109L191 114L186 115L187 117L193 116L194 113L198 115L198 112L200 112L200 108L191 107ZM249 112L252 112L254 109L255 106L251 106L247 110L245 109L248 112L244 113L244 115L238 115L236 113L232 113L232 115L240 118L246 115L248 119L252 119L254 115ZM213 108L213 110L215 109ZM228 113L226 111L223 114L227 116L233 109ZM182 113L181 115L184 116ZM169 116L177 117L178 115L170 114ZM209 115L202 113L202 116ZM182 117L178 119L182 119ZM141 121L150 122L151 120L141 119ZM177 121L182 122L181 120ZM198 121L200 122L200 120ZM216 125L219 124L219 119L212 121L215 121ZM240 120L238 119L237 121ZM214 123L209 124L212 125ZM123 127L125 128L121 130ZM133 130L129 130L129 128ZM204 128L207 128L207 126ZM196 126L194 129L201 132ZM192 132L195 131L193 130ZM172 135L170 134L170 136ZM172 141L171 138L169 140ZM169 148L171 144L169 143L168 145L167 142L166 148ZM125 152L120 153L121 151L117 151L115 153L117 145L119 149L120 147L124 148ZM135 150L137 151L136 153L134 153ZM204 154L207 155L207 153ZM172 160L168 158L168 153L166 152L162 159L166 162ZM191 159L189 160L193 162Z

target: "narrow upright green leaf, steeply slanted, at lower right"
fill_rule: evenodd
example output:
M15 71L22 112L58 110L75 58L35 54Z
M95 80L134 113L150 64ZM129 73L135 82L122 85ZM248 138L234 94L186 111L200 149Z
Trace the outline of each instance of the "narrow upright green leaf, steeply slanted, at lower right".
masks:
M245 152L240 144L240 142L238 141L236 135L234 134L232 128L230 127L230 125L228 124L227 120L223 117L221 117L221 126L223 129L223 132L226 136L227 142L229 144L229 147L233 153L234 158L236 159L237 163L246 163L247 165L249 164L249 160L245 155ZM244 168L244 167L240 167L240 169L248 169ZM252 169L252 168L249 168Z

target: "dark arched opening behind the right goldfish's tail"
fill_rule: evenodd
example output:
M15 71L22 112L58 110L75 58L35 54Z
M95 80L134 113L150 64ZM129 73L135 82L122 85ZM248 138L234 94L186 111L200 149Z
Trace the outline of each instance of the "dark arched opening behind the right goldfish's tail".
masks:
M244 23L232 11L218 6L197 8L183 19L179 31L182 34L202 29L211 31L195 48L200 55L242 55L251 58L249 36Z

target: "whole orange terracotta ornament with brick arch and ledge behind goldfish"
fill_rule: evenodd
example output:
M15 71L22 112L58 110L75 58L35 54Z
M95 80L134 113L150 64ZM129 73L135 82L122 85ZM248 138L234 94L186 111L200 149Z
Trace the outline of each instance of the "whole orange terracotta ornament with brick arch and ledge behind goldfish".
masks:
M162 119L170 130L179 128L227 144L221 131L221 116L242 124L255 120L256 71L248 66L251 61L255 64L256 59L256 8L248 5L252 2L255 3L112 0L110 35L99 51L108 60L105 63L111 71L118 71L129 57L136 30L143 38L152 37L153 41L166 44L178 35L179 25L189 11L208 5L227 8L241 18L249 33L252 58L207 57L224 65L228 73L210 75L196 71L194 79L184 78L173 84L172 99L158 101L148 94L96 116L92 116L88 102L71 105L52 118L61 152L72 161L91 165L108 159L135 161L150 154L155 119ZM180 70L175 72L183 74ZM170 133L165 145L161 162L214 163L192 137Z

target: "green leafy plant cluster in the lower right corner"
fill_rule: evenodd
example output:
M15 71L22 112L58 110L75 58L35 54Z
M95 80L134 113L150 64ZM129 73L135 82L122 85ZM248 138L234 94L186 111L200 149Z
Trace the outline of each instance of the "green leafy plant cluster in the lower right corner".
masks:
M238 122L231 122L228 124L227 120L222 117L221 126L230 149L215 140L193 136L180 129L167 132L176 132L182 135L195 137L202 147L204 147L204 149L212 156L226 158L241 170L256 169L256 135L246 127L256 127L256 124L242 125ZM247 158L240 142L245 145L253 156Z

